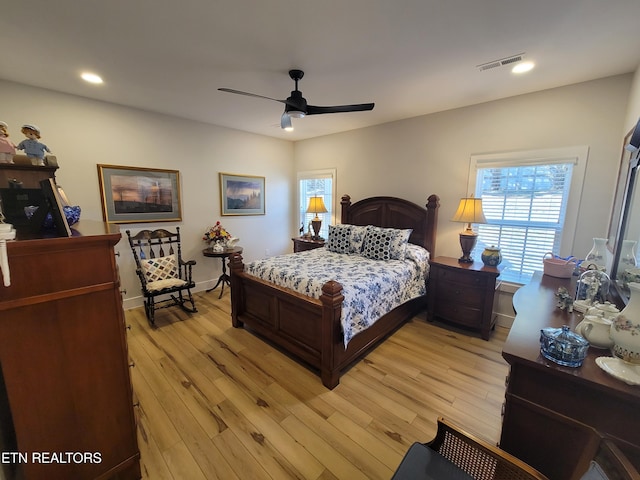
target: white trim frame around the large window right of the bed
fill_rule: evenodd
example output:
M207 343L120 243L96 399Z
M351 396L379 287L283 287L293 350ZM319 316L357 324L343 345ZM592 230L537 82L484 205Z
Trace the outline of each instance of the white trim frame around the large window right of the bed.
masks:
M476 181L479 168L507 168L534 165L551 165L573 163L571 184L567 199L567 210L564 218L560 251L554 252L562 256L572 254L575 246L578 213L582 199L582 190L586 173L589 146L548 148L538 150L521 150L513 152L472 154L470 159L468 191L476 192ZM542 259L540 269L542 270ZM510 281L511 283L518 283Z

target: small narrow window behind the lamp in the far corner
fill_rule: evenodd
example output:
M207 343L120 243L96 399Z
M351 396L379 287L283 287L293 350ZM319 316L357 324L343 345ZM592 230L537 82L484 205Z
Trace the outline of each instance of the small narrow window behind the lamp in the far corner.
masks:
M329 225L335 216L335 169L314 170L310 172L298 173L298 226L304 231L309 231L311 220L315 216L307 213L307 206L311 197L322 197L327 213L319 213L322 220L320 236L329 236ZM313 233L313 230L311 231Z

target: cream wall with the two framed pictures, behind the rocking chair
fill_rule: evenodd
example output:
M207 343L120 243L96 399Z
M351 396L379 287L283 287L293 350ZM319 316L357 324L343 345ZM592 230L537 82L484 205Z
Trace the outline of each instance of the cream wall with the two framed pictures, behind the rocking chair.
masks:
M241 239L247 260L263 257L265 250L291 251L291 142L4 81L0 105L0 120L9 124L15 144L23 138L22 124L40 127L41 141L58 157L57 181L82 208L82 219L102 220L97 164L179 170L182 222L121 225L116 249L126 307L140 303L126 229L180 226L183 257L197 261L197 290L211 287L221 272L218 259L201 253L202 234L216 220ZM266 177L267 214L222 217L219 172Z

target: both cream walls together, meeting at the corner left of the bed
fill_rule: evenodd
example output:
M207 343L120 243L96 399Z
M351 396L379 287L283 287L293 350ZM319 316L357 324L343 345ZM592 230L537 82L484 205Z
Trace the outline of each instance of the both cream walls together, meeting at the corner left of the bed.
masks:
M175 117L0 81L0 120L15 143L33 122L58 156L58 182L83 219L102 219L96 164L180 171L186 258L198 261L198 289L220 274L201 254L201 235L220 219L241 238L245 258L291 250L297 232L295 172L336 168L338 198L394 195L419 204L441 198L437 254L459 256L460 226L450 221L468 192L471 154L589 145L576 241L584 256L605 236L623 133L640 116L640 74L620 75L447 112L305 140L295 144ZM631 92L631 95L630 95ZM354 114L355 115L355 114ZM263 175L267 215L221 217L219 172ZM123 226L171 227L174 224ZM128 246L118 245L127 306L139 286Z

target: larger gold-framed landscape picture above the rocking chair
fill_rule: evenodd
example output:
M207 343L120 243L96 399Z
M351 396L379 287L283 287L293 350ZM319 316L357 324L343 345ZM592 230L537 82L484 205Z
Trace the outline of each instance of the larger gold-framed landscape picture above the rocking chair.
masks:
M98 165L98 179L105 222L182 220L177 170Z

